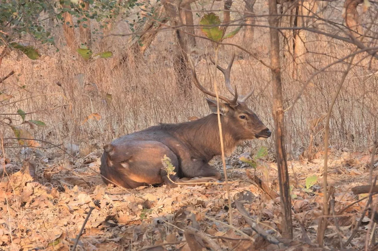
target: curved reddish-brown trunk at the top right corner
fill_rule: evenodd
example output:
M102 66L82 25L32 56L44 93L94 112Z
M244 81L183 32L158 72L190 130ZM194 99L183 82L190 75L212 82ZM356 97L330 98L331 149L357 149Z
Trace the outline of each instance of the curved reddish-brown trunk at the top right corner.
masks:
M345 0L344 2L342 17L344 17L345 24L348 28L351 29L352 32L357 32L357 35L354 34L356 37L361 36L363 32L357 12L357 6L363 2L363 0Z

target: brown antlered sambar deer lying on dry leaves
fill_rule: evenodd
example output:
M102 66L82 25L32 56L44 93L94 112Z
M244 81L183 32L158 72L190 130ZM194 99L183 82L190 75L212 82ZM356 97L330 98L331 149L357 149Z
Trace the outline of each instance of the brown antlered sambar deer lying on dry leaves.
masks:
M226 102L219 104L226 153L232 153L240 141L271 136L271 131L245 104L253 90L245 96L239 96L236 87L235 90L232 89L230 72L234 57L235 55L226 69L217 66L223 72L228 91L234 96L233 99L228 99L219 95ZM194 63L192 60L189 62L195 86L207 95L216 97L214 92L206 90L199 83ZM212 63L215 64L214 61ZM220 172L208 164L214 156L221 155L217 101L206 100L212 114L204 118L179 124L152 126L105 145L100 168L103 181L125 188L164 183L174 187L177 182L219 181ZM170 179L161 162L164 155L171 159L175 167L176 174L171 175ZM187 180L194 177L201 178Z

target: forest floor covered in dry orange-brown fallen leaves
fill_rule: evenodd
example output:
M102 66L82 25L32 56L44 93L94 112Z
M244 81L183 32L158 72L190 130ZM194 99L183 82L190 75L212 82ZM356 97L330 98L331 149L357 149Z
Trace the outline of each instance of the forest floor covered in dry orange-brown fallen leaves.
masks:
M199 228L225 250L276 250L251 231L237 210L229 208L224 185L179 186L169 188L139 187L125 190L105 186L99 176L101 152L85 158L62 161L56 153L37 156L20 166L17 158L5 159L8 177L0 180L0 249L2 250L71 250L85 217L91 211L77 250L181 250L190 251L184 231ZM369 153L331 152L328 162L328 185L333 187L336 214L366 194L355 195L351 188L369 184ZM322 153L307 161L289 161L294 240L310 239L316 243L318 217L321 216L323 189ZM279 236L281 208L279 197L271 198L248 178L253 168L228 158L231 198L241 198L251 218L268 232ZM236 159L236 161L235 161ZM3 159L1 160L4 161ZM376 161L375 161L376 162ZM63 164L62 164L63 163ZM263 161L265 168L255 174L274 191L278 190L276 163ZM222 162L211 162L222 169ZM10 174L12 170L13 174ZM17 171L19 170L19 171ZM248 174L248 175L247 175ZM266 175L268 174L268 176ZM316 174L306 190L308 177ZM373 175L376 174L374 171ZM268 178L268 180L267 180ZM242 196L243 191L250 191ZM244 193L245 195L246 193ZM241 197L240 197L241 196ZM232 199L232 202L234 201ZM330 218L325 232L325 246L338 248L345 243L362 217L367 199L344 210L335 225ZM365 245L370 219L364 216L349 248ZM304 230L302 227L304 227ZM155 245L147 249L149 246ZM203 249L205 250L205 249Z

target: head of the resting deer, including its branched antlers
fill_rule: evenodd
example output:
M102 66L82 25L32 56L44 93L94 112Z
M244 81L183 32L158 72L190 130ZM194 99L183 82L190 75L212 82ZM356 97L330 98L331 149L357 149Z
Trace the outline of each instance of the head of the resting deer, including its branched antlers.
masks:
M220 70L225 77L225 84L227 90L234 98L229 99L226 96L218 95L220 99L226 103L219 103L219 112L222 116L222 128L229 130L232 135L238 140L248 139L266 139L271 136L271 131L261 122L246 104L245 101L253 95L254 88L245 96L238 95L237 89L235 90L231 86L230 73L231 67L234 63L235 54L232 55L231 61L226 69L217 65L217 69ZM211 59L210 59L211 60ZM211 60L213 64L215 62ZM194 63L189 57L189 63L191 65L192 80L195 86L202 92L209 96L216 97L216 94L212 91L205 89L198 81L197 74L195 72ZM212 113L217 113L217 101L206 98L209 108Z

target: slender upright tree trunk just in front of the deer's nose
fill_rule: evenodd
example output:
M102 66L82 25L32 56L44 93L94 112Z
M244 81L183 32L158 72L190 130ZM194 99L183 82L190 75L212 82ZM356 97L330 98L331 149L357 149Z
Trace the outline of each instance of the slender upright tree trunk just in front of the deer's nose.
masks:
M289 174L287 170L285 151L285 131L283 125L282 107L282 82L280 66L280 43L278 30L279 17L277 13L277 1L268 0L269 5L269 26L270 26L270 58L273 84L273 118L276 140L276 160L280 187L280 199L282 210L282 237L293 239L293 223L291 219L291 197Z

